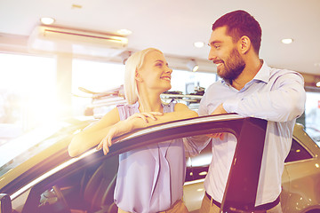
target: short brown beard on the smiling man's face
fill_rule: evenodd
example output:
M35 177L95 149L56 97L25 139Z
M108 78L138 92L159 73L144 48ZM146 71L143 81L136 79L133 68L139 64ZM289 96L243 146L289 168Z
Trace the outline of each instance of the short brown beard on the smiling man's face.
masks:
M236 48L231 51L228 59L224 61L221 60L221 62L223 63L223 67L220 67L217 70L218 75L229 83L232 83L232 81L235 80L244 71L244 59L241 58L241 55L238 51L236 51Z

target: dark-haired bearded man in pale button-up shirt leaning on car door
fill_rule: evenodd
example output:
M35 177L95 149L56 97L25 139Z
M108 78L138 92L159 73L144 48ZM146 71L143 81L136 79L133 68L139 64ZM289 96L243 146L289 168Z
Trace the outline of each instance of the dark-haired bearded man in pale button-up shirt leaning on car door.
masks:
M260 41L260 25L248 12L229 12L216 20L209 60L222 80L207 89L198 113L236 113L268 121L255 206L263 212L282 212L281 176L294 123L304 111L304 81L291 70L268 67L259 58ZM212 135L212 162L200 212L219 212L235 147L232 134Z

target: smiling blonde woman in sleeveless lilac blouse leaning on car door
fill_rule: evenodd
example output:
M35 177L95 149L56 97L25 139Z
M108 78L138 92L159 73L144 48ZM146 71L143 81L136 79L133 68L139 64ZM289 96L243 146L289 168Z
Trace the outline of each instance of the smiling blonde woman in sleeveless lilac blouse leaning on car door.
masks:
M197 116L188 106L162 103L171 89L172 69L164 54L148 48L132 54L125 66L124 92L128 105L117 106L100 122L77 134L71 156L98 145L108 154L112 138L161 122ZM143 147L119 156L115 203L118 212L188 212L181 201L186 162L182 139Z

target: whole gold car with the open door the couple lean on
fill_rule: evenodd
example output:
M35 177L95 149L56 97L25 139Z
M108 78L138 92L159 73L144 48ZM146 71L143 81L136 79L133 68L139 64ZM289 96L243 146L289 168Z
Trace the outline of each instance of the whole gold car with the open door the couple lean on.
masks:
M95 120L66 122L58 131L28 147L0 168L1 212L116 212L113 192L118 154L172 138L228 131L238 138L237 159L230 169L223 212L245 211L254 204L267 122L237 114L209 115L159 124L116 138L104 155L92 148L76 158L68 156L72 136ZM250 132L250 134L249 134ZM252 134L253 132L253 134ZM319 147L296 125L287 157L281 195L284 212L319 210ZM248 148L256 146L254 148ZM197 212L204 197L204 177L211 147L189 157L183 201ZM241 205L239 205L241 203Z

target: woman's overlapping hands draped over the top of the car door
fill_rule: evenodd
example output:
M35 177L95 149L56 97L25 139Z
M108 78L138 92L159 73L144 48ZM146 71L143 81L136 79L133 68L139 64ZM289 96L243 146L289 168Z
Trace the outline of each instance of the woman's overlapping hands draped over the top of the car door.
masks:
M150 112L150 113L137 113L132 114L124 121L117 122L115 125L108 130L108 134L103 138L100 144L97 146L97 149L103 149L103 154L108 154L109 146L113 144L112 138L123 135L124 133L130 132L132 130L137 130L140 128L147 127L148 118L156 121L156 116L161 116L163 113L159 112Z

